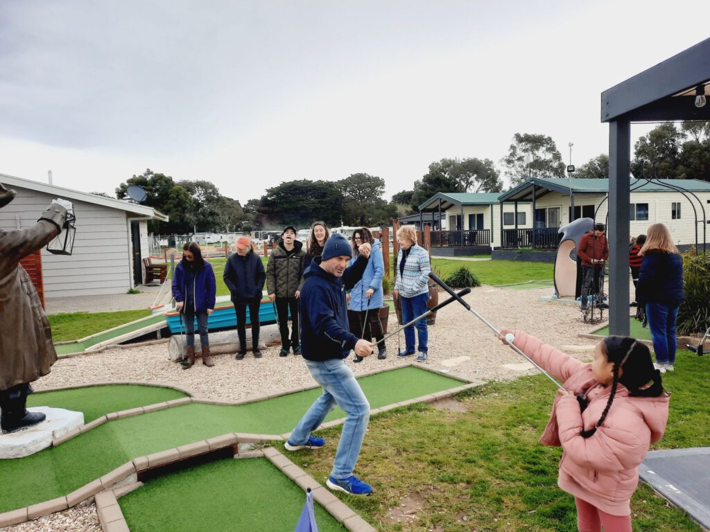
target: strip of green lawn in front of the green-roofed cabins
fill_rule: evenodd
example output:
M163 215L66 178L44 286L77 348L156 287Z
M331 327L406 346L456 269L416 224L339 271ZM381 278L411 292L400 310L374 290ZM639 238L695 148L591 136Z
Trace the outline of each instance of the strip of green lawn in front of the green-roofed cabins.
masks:
M454 270L464 266L474 272L482 284L511 284L532 279L552 279L554 265L548 262L527 262L523 260L469 260L432 258L432 268L445 279Z

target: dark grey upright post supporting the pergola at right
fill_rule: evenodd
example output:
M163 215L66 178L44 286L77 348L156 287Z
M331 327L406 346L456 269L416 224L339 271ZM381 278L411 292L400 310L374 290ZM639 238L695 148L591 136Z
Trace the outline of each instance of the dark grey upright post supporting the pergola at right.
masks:
M628 237L631 128L609 123L609 333L628 336Z

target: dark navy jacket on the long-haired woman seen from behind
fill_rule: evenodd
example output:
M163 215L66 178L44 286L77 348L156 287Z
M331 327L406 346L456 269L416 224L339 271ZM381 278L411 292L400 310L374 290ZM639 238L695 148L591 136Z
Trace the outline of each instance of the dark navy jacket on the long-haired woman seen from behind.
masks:
M636 294L639 304L660 303L670 307L681 304L685 299L683 257L648 251L641 262Z

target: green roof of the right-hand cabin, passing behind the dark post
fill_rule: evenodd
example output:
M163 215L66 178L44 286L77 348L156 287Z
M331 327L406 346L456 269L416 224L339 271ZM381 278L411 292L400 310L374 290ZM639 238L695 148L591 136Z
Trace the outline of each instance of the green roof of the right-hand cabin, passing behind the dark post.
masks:
M608 179L564 179L535 177L501 194L501 201L532 201L532 185L535 184L535 199L549 192L569 194L572 188L574 194L607 194L609 192ZM631 192L672 192L664 184L680 187L689 192L710 192L710 183L699 179L646 179L630 180Z

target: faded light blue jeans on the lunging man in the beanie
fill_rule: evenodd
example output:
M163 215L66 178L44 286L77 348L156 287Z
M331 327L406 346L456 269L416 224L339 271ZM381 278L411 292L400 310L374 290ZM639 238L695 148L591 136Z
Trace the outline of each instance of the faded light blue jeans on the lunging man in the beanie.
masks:
M370 404L343 359L305 362L315 381L323 387L323 394L301 418L288 440L293 445L303 445L335 405L340 406L347 416L330 475L341 480L352 475L355 469L367 423L370 421Z

